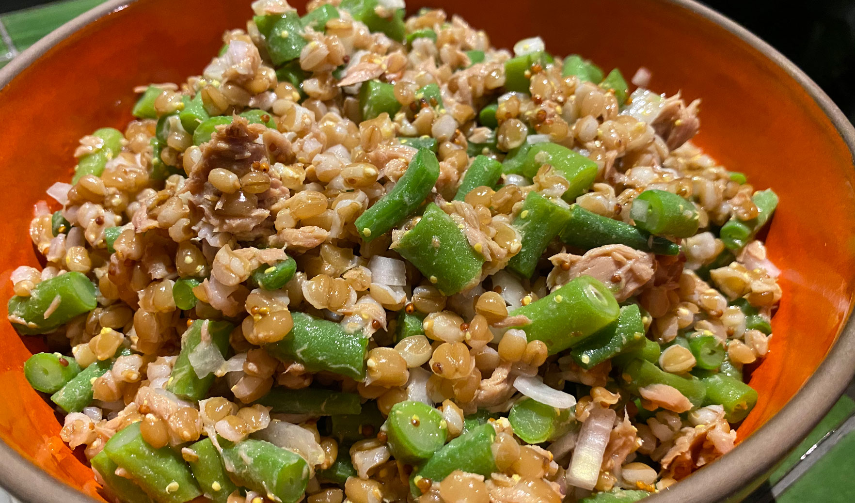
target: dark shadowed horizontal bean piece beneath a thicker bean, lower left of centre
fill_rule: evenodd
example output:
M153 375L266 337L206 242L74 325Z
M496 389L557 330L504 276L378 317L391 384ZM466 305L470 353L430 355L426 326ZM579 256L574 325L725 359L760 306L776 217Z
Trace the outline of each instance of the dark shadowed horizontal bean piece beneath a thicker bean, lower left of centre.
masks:
M271 407L271 412L280 414L332 416L333 414L359 414L363 410L361 401L358 394L329 389L273 388L268 394L258 399L257 403Z

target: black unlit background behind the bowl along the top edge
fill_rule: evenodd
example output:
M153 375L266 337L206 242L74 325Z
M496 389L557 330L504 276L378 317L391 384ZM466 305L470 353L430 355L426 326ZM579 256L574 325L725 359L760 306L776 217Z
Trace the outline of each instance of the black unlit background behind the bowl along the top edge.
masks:
M235 0L215 0L235 1ZM46 0L0 0L0 12ZM855 0L708 0L805 70L855 121Z

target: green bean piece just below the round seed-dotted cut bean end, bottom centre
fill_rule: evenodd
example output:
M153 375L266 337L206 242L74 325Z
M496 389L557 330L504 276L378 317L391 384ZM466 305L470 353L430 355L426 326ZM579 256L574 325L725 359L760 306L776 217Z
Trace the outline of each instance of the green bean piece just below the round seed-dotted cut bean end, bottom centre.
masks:
M445 444L421 469L413 471L410 476L410 491L413 496L422 494L418 486L423 479L441 482L454 470L483 476L490 476L498 471L492 455L492 441L495 438L496 430L492 424L481 424Z

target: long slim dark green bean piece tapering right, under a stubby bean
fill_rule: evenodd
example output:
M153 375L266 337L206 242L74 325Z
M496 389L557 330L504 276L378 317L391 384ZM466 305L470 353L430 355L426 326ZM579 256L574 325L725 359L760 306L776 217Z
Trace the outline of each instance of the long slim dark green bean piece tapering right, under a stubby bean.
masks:
M569 222L559 237L563 243L586 251L598 246L626 245L657 255L680 253L680 246L673 241L652 236L626 222L597 215L579 204L570 205Z

